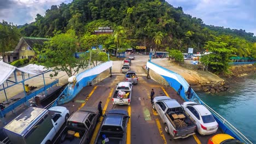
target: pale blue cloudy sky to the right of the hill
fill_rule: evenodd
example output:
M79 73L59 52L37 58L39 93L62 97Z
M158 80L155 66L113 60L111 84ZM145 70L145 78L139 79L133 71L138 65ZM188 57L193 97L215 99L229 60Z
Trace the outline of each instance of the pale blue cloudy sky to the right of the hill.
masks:
M202 19L207 25L245 29L246 32L253 32L256 26L254 0L167 0L167 2L174 7L182 7L184 13Z

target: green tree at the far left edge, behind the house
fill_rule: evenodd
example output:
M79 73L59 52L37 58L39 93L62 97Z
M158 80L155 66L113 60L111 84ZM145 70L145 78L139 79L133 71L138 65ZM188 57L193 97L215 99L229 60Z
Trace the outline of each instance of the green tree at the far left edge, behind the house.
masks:
M13 51L18 44L20 32L18 28L6 21L0 22L0 52L4 58L6 51ZM4 59L3 59L4 62Z

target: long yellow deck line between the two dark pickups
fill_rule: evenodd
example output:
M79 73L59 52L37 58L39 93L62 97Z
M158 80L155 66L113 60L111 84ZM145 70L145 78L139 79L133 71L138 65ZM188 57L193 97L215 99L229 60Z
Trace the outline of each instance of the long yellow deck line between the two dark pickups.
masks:
M104 108L102 110L102 115L104 115L106 110L107 110L108 103L109 103L110 98L112 97L113 91L114 91L114 88L111 88L110 93L109 93L108 98L107 98L107 101L106 101L106 104L104 105ZM98 134L98 131L100 130L100 127L101 127L102 120L103 120L103 117L100 118L100 121L96 125L96 128L94 130L94 134L91 137L90 144L95 142L97 134Z

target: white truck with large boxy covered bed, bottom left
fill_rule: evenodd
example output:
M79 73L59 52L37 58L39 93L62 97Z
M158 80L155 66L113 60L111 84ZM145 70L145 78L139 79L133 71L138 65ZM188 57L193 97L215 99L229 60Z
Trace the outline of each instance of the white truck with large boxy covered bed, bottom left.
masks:
M69 111L63 106L48 110L28 107L4 127L4 132L11 143L52 143L68 117Z

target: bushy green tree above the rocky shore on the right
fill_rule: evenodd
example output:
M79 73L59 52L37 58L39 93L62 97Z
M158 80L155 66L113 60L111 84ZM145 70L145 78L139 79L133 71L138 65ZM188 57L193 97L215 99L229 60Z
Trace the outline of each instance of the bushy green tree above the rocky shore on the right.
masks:
M205 47L212 53L203 56L200 61L207 65L207 69L213 73L228 73L229 59L235 48L232 45L224 43L221 37L214 37L214 41L207 41Z

